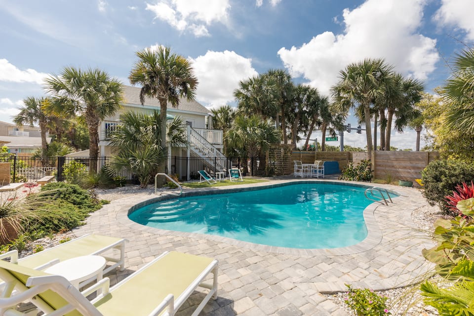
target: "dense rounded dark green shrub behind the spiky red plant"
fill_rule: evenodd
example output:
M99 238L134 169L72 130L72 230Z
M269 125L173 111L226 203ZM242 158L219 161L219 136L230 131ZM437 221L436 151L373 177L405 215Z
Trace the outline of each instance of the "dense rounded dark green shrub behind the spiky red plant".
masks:
M452 194L457 185L474 180L474 165L458 160L435 160L421 174L423 196L430 205L436 204L444 214L451 214L445 197Z

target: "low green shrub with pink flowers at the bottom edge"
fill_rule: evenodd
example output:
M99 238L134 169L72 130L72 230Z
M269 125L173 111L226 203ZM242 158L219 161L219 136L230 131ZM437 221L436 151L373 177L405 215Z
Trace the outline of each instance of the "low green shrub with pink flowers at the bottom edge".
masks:
M357 289L348 287L348 297L345 303L357 316L385 316L391 315L387 309L387 298L382 297L367 288Z

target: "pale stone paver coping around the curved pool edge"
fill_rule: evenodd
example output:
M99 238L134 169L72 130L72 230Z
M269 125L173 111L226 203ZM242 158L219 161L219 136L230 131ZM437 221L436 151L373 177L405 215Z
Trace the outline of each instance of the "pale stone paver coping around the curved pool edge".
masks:
M211 195L211 194L225 194L225 193L233 193L233 192L242 192L242 191L254 191L263 188L275 188L280 186L288 185L289 183L314 183L314 182L321 182L327 184L335 184L335 185L345 185L345 186L356 186L356 187L363 187L363 188L374 188L374 187L382 187L389 192L395 193L398 197L393 198L394 203L398 199L402 199L404 197L403 193L393 190L393 187L385 188L383 185L371 185L370 183L361 184L360 182L348 182L348 181L335 181L335 180L309 180L309 179L288 179L288 180L277 180L274 183L257 183L251 184L248 186L243 187L243 185L238 186L228 186L228 187L210 187L210 188L203 188L203 189L193 189L193 191L183 191L182 197L193 197L193 196L203 196L203 195ZM241 241L237 239L233 239L230 237L220 237L215 235L206 235L206 234L199 234L199 233L186 233L186 232L179 232L179 231L169 231L164 229L159 229L155 227L148 227L142 224L138 224L128 218L128 214L133 212L134 210L143 207L145 205L162 201L162 200L169 200L174 199L176 196L166 195L160 197L146 197L146 198L138 198L133 203L123 203L121 205L121 210L117 214L117 220L120 224L126 225L130 228L145 231L154 234L160 235L173 235L179 237L188 237L188 238L200 238L200 239L207 239L213 240L216 242L224 242L227 244L235 245L238 247L245 247L248 249L256 250L256 251L266 251L270 253L278 253L278 254L292 254L292 255L304 255L304 256L341 256L341 255L351 255L356 253L361 253L367 250L374 248L382 241L383 234L380 230L379 225L377 224L375 218L375 211L376 209L381 206L382 204L373 202L369 204L363 211L363 217L365 221L365 225L367 228L367 236L360 242L356 243L355 245L340 247L340 248L320 248L320 249L303 249L303 248L287 248L287 247L277 247L277 246L269 246L263 244L256 244L247 241ZM126 209L126 211L124 211ZM405 212L404 212L405 213ZM411 214L411 212L410 212ZM406 214L404 214L406 216ZM407 220L407 218L405 218Z

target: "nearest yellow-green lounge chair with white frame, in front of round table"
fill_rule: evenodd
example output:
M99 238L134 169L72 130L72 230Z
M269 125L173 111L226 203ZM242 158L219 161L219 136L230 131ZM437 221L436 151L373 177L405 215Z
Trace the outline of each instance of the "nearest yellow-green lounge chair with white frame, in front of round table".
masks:
M212 284L203 283L209 274ZM62 276L2 260L0 277L7 283L0 298L1 315L36 315L15 311L17 304L29 301L45 316L172 316L200 286L209 292L192 314L197 316L211 297L217 298L217 260L179 252L163 253L112 288L105 277L79 292ZM11 295L13 288L19 293ZM100 290L95 299L87 300Z

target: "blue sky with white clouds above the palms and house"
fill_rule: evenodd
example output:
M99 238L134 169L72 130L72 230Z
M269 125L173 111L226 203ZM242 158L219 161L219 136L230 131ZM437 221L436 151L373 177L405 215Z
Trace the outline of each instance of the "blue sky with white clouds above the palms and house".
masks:
M455 54L473 47L472 12L474 0L0 0L0 120L44 96L43 79L66 66L130 84L136 51L158 45L192 61L208 108L236 106L238 82L269 69L329 95L339 72L364 58L384 58L433 92ZM364 133L344 140L365 146ZM414 149L415 132L394 131L392 145Z

